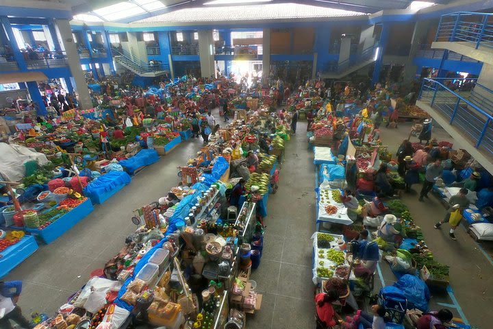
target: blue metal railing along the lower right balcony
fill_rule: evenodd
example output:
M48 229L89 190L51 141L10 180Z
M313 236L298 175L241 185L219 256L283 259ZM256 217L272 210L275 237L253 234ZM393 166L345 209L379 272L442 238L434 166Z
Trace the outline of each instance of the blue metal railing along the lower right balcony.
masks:
M493 154L493 116L491 110L486 110L485 104L476 103L464 95L459 95L461 91L452 90L450 84L446 85L446 80L452 82L453 79L425 78L419 99L442 114L448 119L448 123L459 128L475 148L490 155ZM476 83L474 90L478 86L482 88L480 95L484 94L486 98L488 98L487 93L493 95L492 90L481 84ZM479 90L476 93L479 93Z

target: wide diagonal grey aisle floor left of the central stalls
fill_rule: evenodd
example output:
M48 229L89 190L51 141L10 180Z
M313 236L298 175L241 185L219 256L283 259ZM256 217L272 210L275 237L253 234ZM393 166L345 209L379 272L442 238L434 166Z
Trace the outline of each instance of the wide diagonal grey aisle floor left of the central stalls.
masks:
M125 237L135 232L130 218L134 209L156 201L176 186L177 167L194 156L202 140L191 139L169 156L147 167L131 183L108 199L77 226L50 245L43 245L5 280L22 280L19 305L23 313L55 313L67 298L80 289L89 273L99 269L125 245Z

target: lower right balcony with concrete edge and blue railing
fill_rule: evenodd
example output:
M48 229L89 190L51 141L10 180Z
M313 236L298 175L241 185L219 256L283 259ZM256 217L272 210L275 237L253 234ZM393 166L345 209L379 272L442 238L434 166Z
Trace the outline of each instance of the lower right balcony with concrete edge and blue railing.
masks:
M493 91L476 80L425 79L417 105L427 110L488 171L493 170Z

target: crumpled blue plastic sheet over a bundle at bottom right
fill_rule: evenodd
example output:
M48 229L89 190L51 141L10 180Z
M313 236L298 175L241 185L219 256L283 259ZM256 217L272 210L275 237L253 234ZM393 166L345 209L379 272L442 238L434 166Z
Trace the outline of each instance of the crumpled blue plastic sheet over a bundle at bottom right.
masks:
M407 308L409 310L412 308L417 308L422 312L428 310L429 289L425 281L416 276L406 274L395 282L393 286L383 287L381 291L385 293L398 292L404 295L407 299Z

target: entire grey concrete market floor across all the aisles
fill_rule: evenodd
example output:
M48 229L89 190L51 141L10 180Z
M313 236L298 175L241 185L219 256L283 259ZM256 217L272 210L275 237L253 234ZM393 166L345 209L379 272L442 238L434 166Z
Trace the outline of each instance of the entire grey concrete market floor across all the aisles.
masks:
M268 200L264 254L260 267L251 276L264 297L262 310L248 319L249 328L314 328L310 241L315 230L314 164L305 130L306 123L299 122L298 134L286 144L279 191ZM396 130L383 128L381 138L395 153L409 130L409 124ZM448 134L440 128L433 130L433 135L439 140L448 139ZM123 247L125 236L136 228L130 221L132 211L157 200L175 186L176 167L193 156L200 145L201 142L193 139L180 145L169 156L138 173L127 188L105 204L95 206L94 212L57 241L41 246L14 269L5 280L23 280L20 306L25 315L32 311L53 314L87 282L90 271L101 268L114 256ZM419 188L415 185L412 193L403 196L403 201L423 228L435 258L451 265L451 287L468 321L479 328L490 328L488 317L483 315L490 312L493 302L490 292L493 264L464 229L457 230L457 241L451 241L446 227L432 228L445 210L433 197L418 202ZM483 247L492 249L491 245ZM396 280L385 263L381 263L381 273L385 284ZM379 282L375 280L375 291L381 286ZM447 294L434 295L431 308L441 307L437 302L454 303Z

